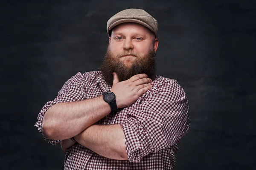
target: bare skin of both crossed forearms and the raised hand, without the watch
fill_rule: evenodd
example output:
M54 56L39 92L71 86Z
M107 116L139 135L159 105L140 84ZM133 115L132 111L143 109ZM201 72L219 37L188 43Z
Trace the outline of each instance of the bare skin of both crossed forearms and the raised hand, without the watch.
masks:
M119 82L113 74L111 91L116 94L116 105L124 108L135 102L151 88L151 79L138 74ZM45 113L42 133L49 139L62 140L61 147L66 150L72 146L69 138L110 159L127 159L125 135L120 125L93 125L111 112L102 96L79 102L58 103ZM72 114L70 114L72 113Z

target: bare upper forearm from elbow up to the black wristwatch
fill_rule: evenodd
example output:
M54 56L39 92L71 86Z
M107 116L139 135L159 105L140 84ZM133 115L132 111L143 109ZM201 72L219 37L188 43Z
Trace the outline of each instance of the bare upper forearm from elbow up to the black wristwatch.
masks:
M53 105L45 113L42 131L49 139L63 140L76 136L111 112L102 96L79 102Z

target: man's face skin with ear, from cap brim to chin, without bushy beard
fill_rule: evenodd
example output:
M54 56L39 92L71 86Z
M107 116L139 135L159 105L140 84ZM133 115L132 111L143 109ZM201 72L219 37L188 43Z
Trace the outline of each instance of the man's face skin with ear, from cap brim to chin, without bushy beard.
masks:
M145 26L137 23L122 23L113 28L108 50L126 67L136 62L136 57L145 57L148 51L157 51L158 39Z

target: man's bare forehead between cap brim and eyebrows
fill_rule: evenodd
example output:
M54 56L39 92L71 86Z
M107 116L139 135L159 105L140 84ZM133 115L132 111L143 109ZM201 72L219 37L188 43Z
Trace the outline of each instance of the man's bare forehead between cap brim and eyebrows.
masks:
M112 31L112 34L137 33L137 34L144 34L148 36L151 36L151 35L154 36L154 33L150 29L138 23L122 23L114 27L111 31Z

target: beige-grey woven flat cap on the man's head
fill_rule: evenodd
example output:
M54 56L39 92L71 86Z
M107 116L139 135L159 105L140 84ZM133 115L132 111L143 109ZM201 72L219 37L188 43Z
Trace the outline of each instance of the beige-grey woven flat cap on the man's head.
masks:
M153 31L157 38L157 30L158 30L157 20L154 19L154 17L152 17L143 9L135 9L135 8L125 9L123 11L118 12L113 17L111 17L107 23L108 36L110 36L110 30L121 23L141 24L147 27L148 29L150 29L151 31Z

